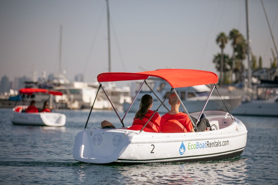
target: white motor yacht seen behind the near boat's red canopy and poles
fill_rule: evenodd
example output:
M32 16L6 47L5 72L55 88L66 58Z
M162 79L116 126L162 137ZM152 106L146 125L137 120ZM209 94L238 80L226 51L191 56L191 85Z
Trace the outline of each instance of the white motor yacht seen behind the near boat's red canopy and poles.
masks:
M153 79L149 80L148 82L151 89L153 89L158 96L158 98L164 99L169 91L171 90L171 86L165 82L164 80L159 79ZM136 82L133 86L136 86L132 89L136 89L131 96L134 97L134 94L136 94L140 87L140 82ZM191 86L191 87L183 87L183 88L176 88L176 91L178 95L180 96L182 102L184 105L188 107L189 112L197 112L202 110L204 103L209 95L210 88L206 85L199 85L199 86ZM150 94L153 96L153 106L159 106L160 101L159 99L153 95L151 90L144 85L142 87L142 90L139 92L136 100L133 103L133 106L131 106L130 110L131 112L136 112L139 109L141 97L145 94ZM222 100L226 104L228 110L233 110L235 107L239 106L241 103L241 96L221 96ZM206 110L226 110L222 100L219 95L211 95L210 100L206 106ZM126 111L129 108L129 103L123 103L123 109ZM168 103L165 103L168 109L170 109L170 106ZM168 112L168 110L165 107L160 108L160 113Z

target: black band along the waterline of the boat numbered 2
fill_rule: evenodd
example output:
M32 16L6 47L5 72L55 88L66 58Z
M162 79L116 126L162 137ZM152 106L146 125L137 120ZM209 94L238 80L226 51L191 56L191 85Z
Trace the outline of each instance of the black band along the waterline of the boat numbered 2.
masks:
M233 153L228 153L226 155L220 155L220 156L235 156L235 155L237 155L237 153L239 153L239 155L240 155L243 152L244 148L245 147L242 147L242 148L239 148L239 149L235 149L235 150L230 150L230 151L224 151L224 152L219 152L219 153L210 153L210 154L204 154L204 155L196 155L196 156L183 156L183 157L172 157L172 158L161 158L161 159L143 159L143 160L133 160L133 159L117 159L117 160L121 160L121 161L158 161L158 160L168 160L168 161L164 161L164 162L169 162L169 159L183 159L183 158L189 158L189 157L210 156L210 155L216 155L216 154L221 154L221 153L228 153L228 152L232 152L232 151L236 151L236 150L242 149L241 151L237 151L237 152L233 152ZM232 155L230 155L230 154L232 154ZM206 157L206 158L195 158L195 159L186 159L186 160L193 160L195 162L195 161L201 161L200 159L220 158L220 156L212 156L212 157ZM178 160L178 161L181 161L181 160ZM171 160L171 162L172 162L172 160Z

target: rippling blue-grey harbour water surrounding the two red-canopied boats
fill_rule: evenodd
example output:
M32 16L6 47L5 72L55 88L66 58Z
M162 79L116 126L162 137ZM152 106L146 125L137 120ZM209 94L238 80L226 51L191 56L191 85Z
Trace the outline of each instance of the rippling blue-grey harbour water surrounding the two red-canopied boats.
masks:
M237 116L248 129L241 157L181 164L94 165L72 157L74 138L89 110L61 110L65 127L13 125L0 109L0 184L277 184L278 118ZM123 114L120 114L123 116ZM133 118L130 113L125 123ZM88 128L118 123L109 111L92 112ZM115 124L120 127L120 124Z

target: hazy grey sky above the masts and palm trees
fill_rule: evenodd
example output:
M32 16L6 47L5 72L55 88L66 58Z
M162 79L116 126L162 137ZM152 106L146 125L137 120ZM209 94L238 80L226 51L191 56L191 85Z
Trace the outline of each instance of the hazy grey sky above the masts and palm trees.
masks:
M278 1L264 0L276 43ZM215 39L233 28L246 37L244 0L110 0L111 71L162 68L213 71ZM0 77L58 72L63 25L62 69L73 80L93 81L108 71L105 0L0 0ZM260 0L249 0L250 46L270 66L273 48ZM232 54L231 42L225 53Z

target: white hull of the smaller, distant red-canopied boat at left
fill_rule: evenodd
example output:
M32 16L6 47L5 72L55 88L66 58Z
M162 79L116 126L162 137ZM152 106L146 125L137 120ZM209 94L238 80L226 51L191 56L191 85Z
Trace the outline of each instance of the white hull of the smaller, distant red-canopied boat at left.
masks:
M19 125L61 127L66 123L66 116L65 114L54 112L25 113L12 111L10 113L10 120L13 124Z

